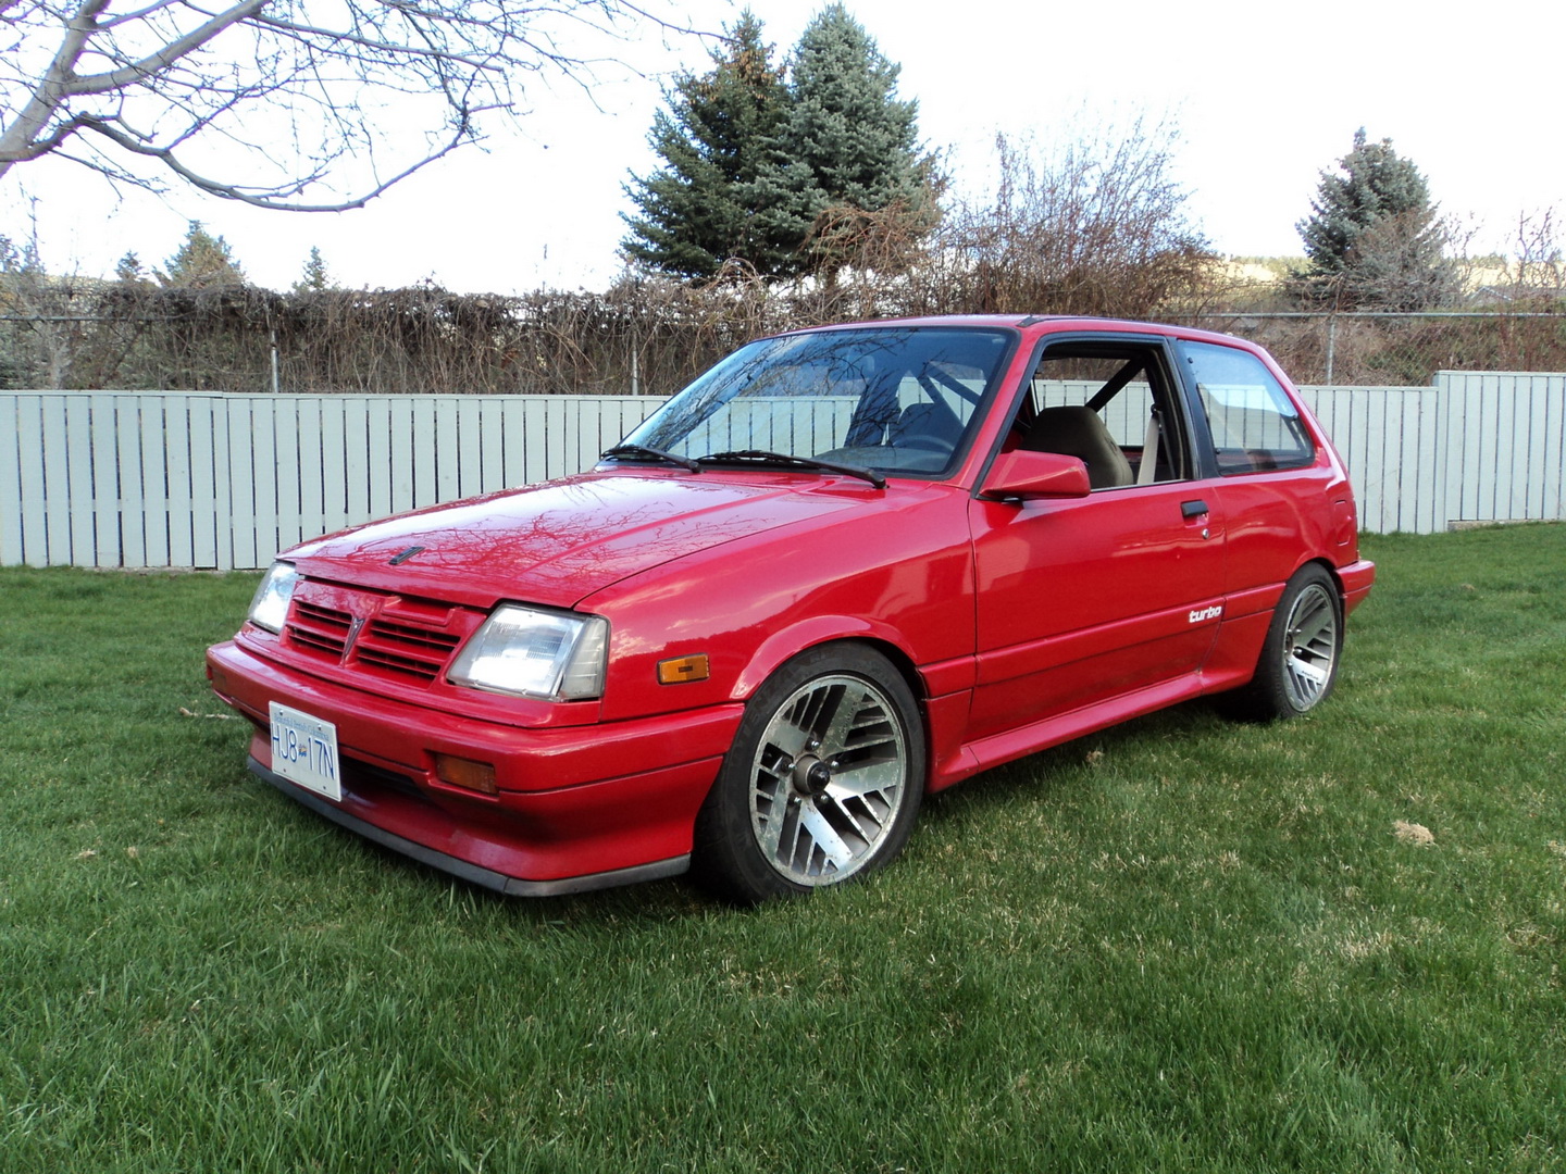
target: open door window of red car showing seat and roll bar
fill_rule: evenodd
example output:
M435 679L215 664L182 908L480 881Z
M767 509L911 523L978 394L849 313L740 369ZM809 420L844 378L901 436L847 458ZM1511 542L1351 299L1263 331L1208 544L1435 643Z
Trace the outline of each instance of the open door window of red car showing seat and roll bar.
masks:
M1095 490L1192 476L1184 420L1159 348L1057 343L1034 368L1018 445L1087 465Z

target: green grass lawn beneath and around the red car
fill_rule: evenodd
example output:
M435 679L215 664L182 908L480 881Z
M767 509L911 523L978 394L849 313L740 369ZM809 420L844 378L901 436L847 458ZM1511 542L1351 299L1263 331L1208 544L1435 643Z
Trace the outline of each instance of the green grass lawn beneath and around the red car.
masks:
M252 780L254 576L0 571L0 1169L1566 1168L1566 526L1366 545L1311 718L1060 747L755 913Z

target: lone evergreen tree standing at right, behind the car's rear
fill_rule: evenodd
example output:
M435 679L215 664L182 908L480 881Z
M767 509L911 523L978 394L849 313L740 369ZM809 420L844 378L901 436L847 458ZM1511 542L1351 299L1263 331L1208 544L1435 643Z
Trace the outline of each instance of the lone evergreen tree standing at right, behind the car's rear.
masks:
M1422 310L1450 294L1445 230L1419 169L1391 139L1367 142L1362 127L1337 167L1322 172L1311 216L1297 225L1309 260L1300 277L1312 293L1387 310Z

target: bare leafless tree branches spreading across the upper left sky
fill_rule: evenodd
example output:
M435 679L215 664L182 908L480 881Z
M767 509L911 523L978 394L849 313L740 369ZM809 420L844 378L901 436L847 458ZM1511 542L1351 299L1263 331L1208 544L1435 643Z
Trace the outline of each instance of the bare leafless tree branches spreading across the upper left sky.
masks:
M570 45L645 22L672 28L636 0L0 0L0 177L53 155L355 208L515 113L525 81L587 86L608 59Z

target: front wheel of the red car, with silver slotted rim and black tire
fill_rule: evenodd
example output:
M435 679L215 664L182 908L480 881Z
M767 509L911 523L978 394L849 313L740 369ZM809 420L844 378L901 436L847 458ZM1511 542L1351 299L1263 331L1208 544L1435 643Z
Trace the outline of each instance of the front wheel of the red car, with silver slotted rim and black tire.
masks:
M879 869L913 830L924 762L919 706L885 656L796 656L745 706L697 816L697 877L755 905Z

